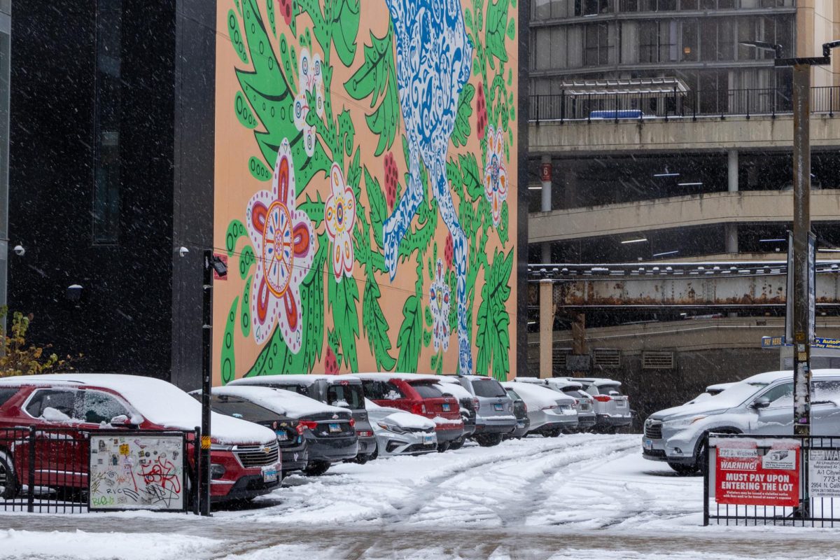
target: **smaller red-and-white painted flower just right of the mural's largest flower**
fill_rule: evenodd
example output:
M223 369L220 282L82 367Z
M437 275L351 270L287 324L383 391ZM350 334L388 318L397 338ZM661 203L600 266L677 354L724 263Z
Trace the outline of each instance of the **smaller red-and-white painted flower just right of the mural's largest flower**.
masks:
M353 275L353 226L356 222L356 197L344 183L344 174L333 163L329 172L330 194L323 207L327 235L333 242L333 275L340 282L343 276Z

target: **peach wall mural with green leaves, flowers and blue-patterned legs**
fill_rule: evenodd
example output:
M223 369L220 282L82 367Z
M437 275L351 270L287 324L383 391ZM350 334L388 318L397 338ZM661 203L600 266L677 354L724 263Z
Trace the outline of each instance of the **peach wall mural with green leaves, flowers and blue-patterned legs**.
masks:
M512 373L517 22L517 0L218 0L217 383Z

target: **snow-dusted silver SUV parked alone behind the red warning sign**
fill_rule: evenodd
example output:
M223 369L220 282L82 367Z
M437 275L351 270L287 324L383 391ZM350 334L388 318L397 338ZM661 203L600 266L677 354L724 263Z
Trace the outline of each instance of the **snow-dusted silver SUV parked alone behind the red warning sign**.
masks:
M733 383L717 395L659 411L644 422L642 454L680 474L705 468L705 432L793 434L793 372L772 371ZM811 433L840 433L840 369L811 377Z

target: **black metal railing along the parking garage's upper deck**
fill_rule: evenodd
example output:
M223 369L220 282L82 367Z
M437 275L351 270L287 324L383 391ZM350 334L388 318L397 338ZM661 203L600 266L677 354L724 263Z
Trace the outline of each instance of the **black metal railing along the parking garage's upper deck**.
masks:
M775 117L791 113L790 88L700 90L695 92L601 93L561 92L531 96L530 119L541 121L627 121L646 118L732 116ZM811 88L811 113L840 113L840 86Z

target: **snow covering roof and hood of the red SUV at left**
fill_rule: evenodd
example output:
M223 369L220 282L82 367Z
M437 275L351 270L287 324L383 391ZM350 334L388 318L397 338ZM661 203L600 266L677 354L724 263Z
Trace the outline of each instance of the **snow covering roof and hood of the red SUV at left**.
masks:
M129 401L147 420L162 427L192 431L202 423L202 406L162 379L126 374L44 374L0 379L3 385L91 385L110 389ZM270 443L276 434L266 427L213 413L213 438L220 443Z

